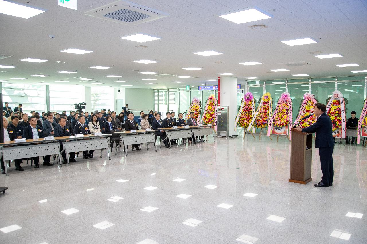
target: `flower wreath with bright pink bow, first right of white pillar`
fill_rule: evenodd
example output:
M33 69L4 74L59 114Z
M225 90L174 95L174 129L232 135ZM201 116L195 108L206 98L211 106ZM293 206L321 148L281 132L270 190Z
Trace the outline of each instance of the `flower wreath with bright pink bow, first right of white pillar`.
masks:
M254 114L255 99L251 92L247 92L241 101L241 106L235 119L235 131L237 126L247 128Z

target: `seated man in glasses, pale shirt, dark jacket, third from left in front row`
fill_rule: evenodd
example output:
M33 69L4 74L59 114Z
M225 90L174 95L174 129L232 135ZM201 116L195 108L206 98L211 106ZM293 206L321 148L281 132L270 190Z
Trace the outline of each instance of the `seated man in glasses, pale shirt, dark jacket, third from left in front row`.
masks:
M23 138L26 138L27 140L44 138L42 127L37 126L37 119L33 116L29 117L28 119L29 119L30 126L27 126L24 128ZM34 167L39 168L39 158L34 157L32 159L34 162ZM52 166L53 164L50 163L50 159L51 159L51 155L44 156L43 165Z

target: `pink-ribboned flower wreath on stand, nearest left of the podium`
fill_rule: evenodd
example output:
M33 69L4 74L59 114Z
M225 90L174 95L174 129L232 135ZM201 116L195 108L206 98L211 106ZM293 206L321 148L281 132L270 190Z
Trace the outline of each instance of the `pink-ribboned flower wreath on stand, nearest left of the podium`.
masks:
M277 102L273 116L269 120L267 136L270 134L287 136L290 140L290 126L292 124L292 100L288 92L283 92ZM289 135L289 136L288 136Z

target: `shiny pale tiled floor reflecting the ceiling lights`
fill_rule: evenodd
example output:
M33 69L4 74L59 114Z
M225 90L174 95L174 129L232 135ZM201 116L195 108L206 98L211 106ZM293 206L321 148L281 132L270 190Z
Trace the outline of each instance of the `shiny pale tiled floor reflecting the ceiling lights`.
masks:
M24 161L25 171L0 176L9 187L0 196L0 242L366 244L366 149L335 146L329 188L313 186L316 149L313 182L288 182L286 138L209 138L62 168Z

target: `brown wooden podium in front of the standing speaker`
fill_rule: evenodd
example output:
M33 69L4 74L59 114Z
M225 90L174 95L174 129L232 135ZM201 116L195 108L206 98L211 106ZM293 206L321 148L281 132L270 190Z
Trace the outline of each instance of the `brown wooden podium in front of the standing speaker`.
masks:
M291 178L289 182L307 184L311 178L312 133L291 129Z

